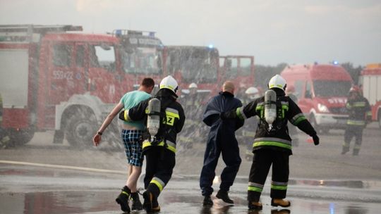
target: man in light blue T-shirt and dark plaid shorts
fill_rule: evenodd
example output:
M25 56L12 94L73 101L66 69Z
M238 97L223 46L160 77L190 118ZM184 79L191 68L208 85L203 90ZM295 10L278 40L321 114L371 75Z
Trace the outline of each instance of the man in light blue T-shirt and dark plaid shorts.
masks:
M132 108L136 106L140 101L150 99L152 89L155 87L155 82L152 78L145 78L138 90L128 92L124 94L118 104L112 109L112 111L104 119L102 126L99 128L97 134L93 137L92 141L95 146L98 146L102 140L102 134L104 130L110 125L111 121L116 115L124 108ZM116 203L119 203L123 212L129 213L130 206L128 201L132 199L132 210L142 210L143 206L139 199L137 192L138 178L142 172L143 158L142 157L142 145L141 135L145 130L144 121L131 121L123 122L121 138L126 151L128 160L128 179L126 185L122 188L121 194L115 199Z

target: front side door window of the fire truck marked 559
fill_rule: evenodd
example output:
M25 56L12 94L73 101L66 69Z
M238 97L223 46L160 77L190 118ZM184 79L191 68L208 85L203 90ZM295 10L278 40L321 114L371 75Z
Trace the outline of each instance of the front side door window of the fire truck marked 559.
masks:
M92 46L90 48L90 65L95 68L105 68L109 71L115 71L114 46Z

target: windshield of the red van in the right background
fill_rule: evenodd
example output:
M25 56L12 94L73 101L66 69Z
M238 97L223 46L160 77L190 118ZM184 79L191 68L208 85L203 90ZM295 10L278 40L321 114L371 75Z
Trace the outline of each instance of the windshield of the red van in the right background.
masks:
M331 96L347 96L351 88L350 81L339 80L315 80L313 81L313 89L315 96L331 97Z

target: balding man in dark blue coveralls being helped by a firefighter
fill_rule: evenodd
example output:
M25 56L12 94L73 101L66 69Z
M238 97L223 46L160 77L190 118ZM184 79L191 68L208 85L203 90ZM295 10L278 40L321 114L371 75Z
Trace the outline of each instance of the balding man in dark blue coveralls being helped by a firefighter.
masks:
M219 115L234 108L241 107L242 103L239 99L234 98L234 84L226 81L222 86L222 92L214 96L207 103L203 122L210 126L210 132L207 139L207 147L205 150L204 164L200 175L200 188L202 196L204 196L203 205L212 206L213 201L210 195L213 192L212 182L215 177L215 169L222 153L222 159L226 167L221 174L221 184L216 197L222 199L226 203L234 203L229 198L228 191L233 185L239 166L241 165L241 157L239 155L238 141L235 132L242 127L243 120L220 120Z

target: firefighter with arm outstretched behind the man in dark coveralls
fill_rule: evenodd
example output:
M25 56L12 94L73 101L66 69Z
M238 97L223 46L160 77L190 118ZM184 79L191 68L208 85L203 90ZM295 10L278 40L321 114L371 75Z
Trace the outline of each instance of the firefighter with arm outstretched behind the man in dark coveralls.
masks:
M285 96L286 80L280 75L275 75L270 79L268 88L265 96L255 99L243 108L221 115L222 119L245 120L255 115L260 118L253 142L254 157L248 183L249 210L262 209L260 195L271 165L271 205L282 207L291 205L290 201L284 200L289 181L289 156L292 154L287 120L313 137L315 145L319 144L316 131L301 113L301 109L289 96Z

